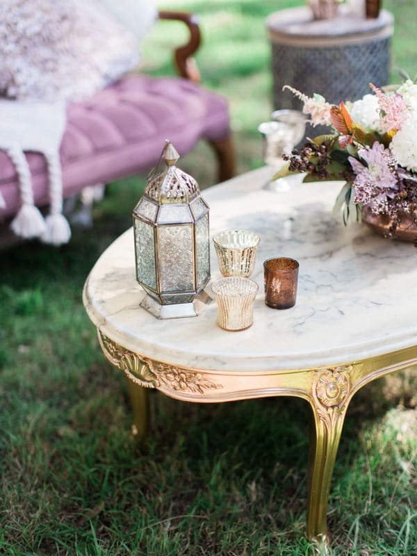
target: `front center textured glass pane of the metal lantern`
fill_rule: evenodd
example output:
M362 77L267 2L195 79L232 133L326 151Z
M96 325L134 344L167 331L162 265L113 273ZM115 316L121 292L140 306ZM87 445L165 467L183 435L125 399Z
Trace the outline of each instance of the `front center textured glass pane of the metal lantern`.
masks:
M193 290L193 226L158 227L161 291Z

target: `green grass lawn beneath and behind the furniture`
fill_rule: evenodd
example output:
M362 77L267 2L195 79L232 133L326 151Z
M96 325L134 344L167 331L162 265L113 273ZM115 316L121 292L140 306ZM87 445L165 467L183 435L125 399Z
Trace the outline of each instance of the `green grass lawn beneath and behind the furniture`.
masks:
M229 98L238 169L261 165L268 117L265 16L302 2L170 0L202 15L204 83ZM396 18L393 61L417 74L415 0ZM158 24L142 64L172 72ZM208 147L184 157L202 187ZM58 249L0 252L0 555L304 556L309 409L271 398L188 404L152 395L152 434L131 434L126 384L106 363L81 302L97 257L131 222L143 179L113 183L95 227ZM414 253L411 252L411 256ZM359 392L347 414L329 500L334 556L417 554L416 373Z

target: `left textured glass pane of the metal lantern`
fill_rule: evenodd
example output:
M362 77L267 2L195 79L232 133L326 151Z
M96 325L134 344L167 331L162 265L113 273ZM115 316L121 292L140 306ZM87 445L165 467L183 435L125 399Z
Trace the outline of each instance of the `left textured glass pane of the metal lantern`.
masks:
M138 281L156 290L154 227L152 224L133 220L136 242L136 277Z

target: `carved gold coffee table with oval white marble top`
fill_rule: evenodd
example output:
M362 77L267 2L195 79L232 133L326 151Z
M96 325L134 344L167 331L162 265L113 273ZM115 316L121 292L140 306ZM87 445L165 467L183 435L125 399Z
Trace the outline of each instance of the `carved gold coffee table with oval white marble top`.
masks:
M364 224L333 220L340 182L302 184L297 176L288 193L274 193L262 188L269 177L261 168L203 192L211 235L244 228L261 236L249 329L220 329L214 302L197 318L158 320L141 309L131 229L100 256L83 300L104 354L129 378L140 437L149 388L188 402L288 395L310 404L306 534L325 554L327 499L350 400L368 382L417 363L417 254ZM215 279L213 248L211 255ZM300 262L297 304L285 311L264 303L262 263L272 256Z

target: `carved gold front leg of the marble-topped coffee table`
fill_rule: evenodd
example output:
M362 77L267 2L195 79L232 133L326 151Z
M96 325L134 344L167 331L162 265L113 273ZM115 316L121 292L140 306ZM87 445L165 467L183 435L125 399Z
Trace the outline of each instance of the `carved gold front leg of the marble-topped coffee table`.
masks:
M313 541L314 553L320 556L329 554L327 502L349 390L348 374L336 370L318 374L313 383L306 535Z

